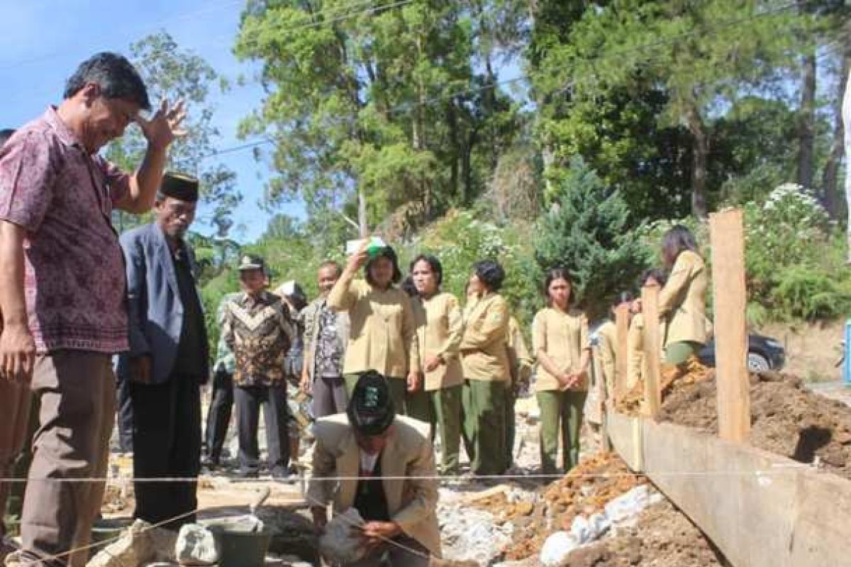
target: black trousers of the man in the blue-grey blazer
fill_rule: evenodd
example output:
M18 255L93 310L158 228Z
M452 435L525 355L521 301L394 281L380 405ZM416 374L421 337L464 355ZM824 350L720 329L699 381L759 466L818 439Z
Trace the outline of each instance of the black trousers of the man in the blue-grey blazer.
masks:
M163 384L130 384L133 400L133 474L137 479L197 478L201 469L199 377L173 374ZM151 524L181 514L163 527L195 521L197 481L135 481L134 517Z

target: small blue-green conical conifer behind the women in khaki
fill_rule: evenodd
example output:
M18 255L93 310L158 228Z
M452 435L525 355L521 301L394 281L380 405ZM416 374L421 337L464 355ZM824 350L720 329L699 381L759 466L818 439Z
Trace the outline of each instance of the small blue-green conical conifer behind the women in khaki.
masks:
M548 207L535 231L538 268L568 269L580 305L591 317L604 315L611 298L631 290L648 265L629 208L581 158L553 184Z

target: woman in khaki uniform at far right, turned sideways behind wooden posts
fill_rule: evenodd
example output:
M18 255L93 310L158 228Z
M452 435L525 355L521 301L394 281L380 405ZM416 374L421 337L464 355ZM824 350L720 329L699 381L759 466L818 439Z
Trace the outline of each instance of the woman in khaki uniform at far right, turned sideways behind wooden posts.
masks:
M706 343L706 286L709 277L697 253L694 235L677 224L662 238L662 259L670 270L659 294L659 314L666 326L665 362L682 364Z

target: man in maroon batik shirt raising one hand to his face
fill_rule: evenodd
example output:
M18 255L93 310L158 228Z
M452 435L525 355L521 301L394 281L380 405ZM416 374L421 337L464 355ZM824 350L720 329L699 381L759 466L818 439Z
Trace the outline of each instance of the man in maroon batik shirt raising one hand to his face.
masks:
M128 348L121 248L113 208L151 209L168 145L185 113L163 104L146 120L145 84L129 61L96 54L64 99L0 151L0 380L30 383L41 401L13 560L80 564L100 508L115 406L113 354ZM136 122L147 140L123 173L98 150ZM63 482L64 481L64 482ZM57 557L58 556L58 557Z

